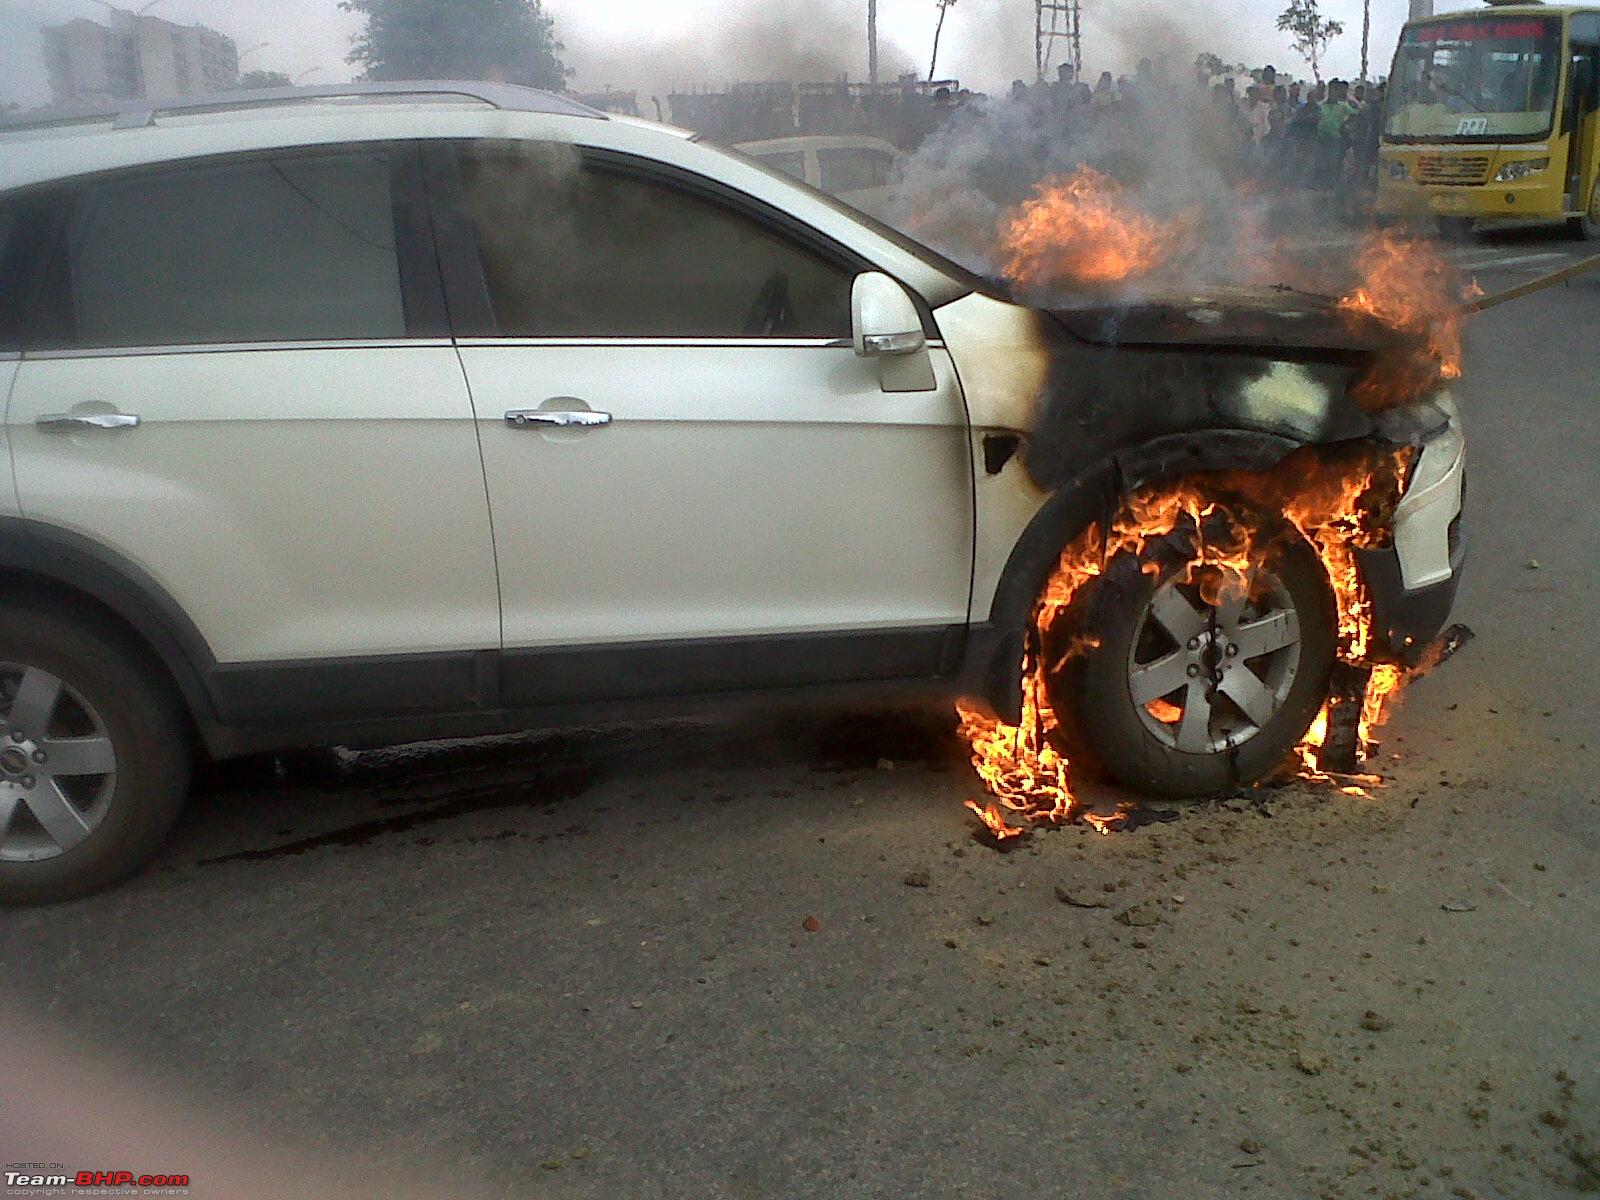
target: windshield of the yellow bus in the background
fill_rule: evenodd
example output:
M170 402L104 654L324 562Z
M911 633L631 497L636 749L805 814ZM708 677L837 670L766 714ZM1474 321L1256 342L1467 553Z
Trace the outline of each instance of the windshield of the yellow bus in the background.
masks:
M1400 38L1389 138L1542 138L1562 77L1558 18L1482 18L1410 26Z

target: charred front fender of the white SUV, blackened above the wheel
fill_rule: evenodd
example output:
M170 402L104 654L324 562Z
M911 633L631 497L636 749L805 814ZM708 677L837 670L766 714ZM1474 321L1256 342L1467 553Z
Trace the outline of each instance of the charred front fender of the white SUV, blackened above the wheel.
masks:
M952 326L974 434L1019 438L1014 454L979 459L981 568L986 538L1010 525L1011 539L1003 566L987 579L979 570L982 624L968 656L968 686L1005 720L1019 717L1026 630L1061 550L1122 498L1194 472L1269 470L1302 446L1374 432L1350 398L1365 347L1326 338L1298 349L1235 346L1221 322L1198 344L1160 341L1149 328L1142 344L1096 344L1050 314L992 298ZM986 504L1003 518L986 520Z

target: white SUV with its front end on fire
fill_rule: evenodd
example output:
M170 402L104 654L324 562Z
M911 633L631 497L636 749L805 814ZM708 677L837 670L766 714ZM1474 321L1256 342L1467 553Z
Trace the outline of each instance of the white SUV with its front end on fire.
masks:
M1381 342L1282 293L1026 307L760 163L504 85L11 118L0 899L147 862L197 752L906 690L1016 720L1062 546L1307 446L1418 448L1363 555L1405 659L1450 608L1462 453L1438 394L1350 400ZM1128 590L1064 728L1154 790L1270 770L1328 690L1310 562L1230 611ZM1133 744L1158 682L1184 720Z

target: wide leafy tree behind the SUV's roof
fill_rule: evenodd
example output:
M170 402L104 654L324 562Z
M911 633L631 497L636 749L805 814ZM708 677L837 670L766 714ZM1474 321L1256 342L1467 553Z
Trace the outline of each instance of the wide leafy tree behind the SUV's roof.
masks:
M366 27L349 61L366 78L504 78L565 86L562 43L541 0L341 0Z

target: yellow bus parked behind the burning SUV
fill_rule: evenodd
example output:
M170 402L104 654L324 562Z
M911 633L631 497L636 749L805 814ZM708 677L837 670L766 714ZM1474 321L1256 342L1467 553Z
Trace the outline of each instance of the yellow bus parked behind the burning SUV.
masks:
M1496 3L1413 21L1384 98L1378 211L1600 238L1600 8Z

